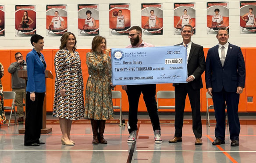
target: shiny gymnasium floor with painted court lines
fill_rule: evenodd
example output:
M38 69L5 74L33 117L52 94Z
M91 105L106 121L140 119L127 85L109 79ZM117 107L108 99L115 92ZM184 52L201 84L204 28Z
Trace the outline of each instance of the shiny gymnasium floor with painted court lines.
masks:
M160 118L167 118L161 116ZM168 116L170 118L170 116ZM173 118L173 117L172 117ZM124 119L127 119L124 116ZM202 119L206 119L202 116ZM149 117L139 116L137 142L128 144L127 126L106 125L104 137L107 145L92 145L92 129L89 121L76 121L72 125L71 138L75 146L61 145L58 119L47 116L47 127L53 131L41 135L45 145L24 146L24 135L18 129L24 125L2 125L0 128L0 163L255 163L256 120L254 116L240 116L240 146L231 147L226 129L226 144L212 146L214 125L210 128L203 121L203 145L195 146L191 116L185 116L183 142L170 144L174 125L161 125L163 143L155 144ZM174 122L174 120L160 120ZM112 121L113 122L113 121ZM127 122L127 121L126 121Z

